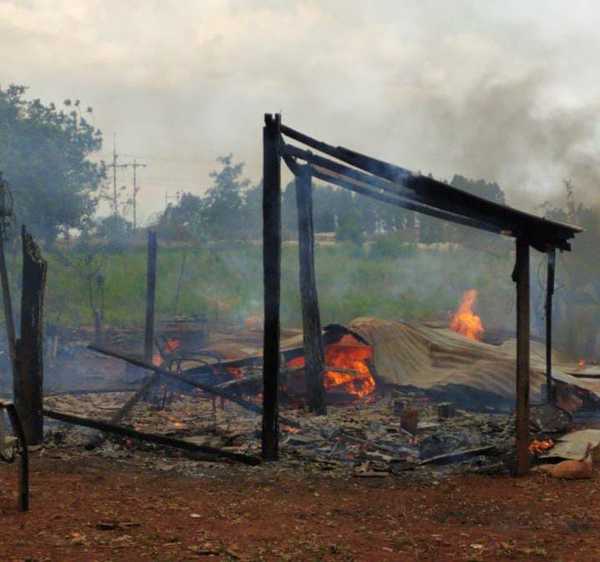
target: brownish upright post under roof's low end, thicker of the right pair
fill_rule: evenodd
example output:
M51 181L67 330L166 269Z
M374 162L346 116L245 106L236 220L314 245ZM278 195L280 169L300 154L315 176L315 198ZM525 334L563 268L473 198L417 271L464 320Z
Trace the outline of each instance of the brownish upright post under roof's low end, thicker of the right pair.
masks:
M529 472L529 243L517 238L517 427L516 473Z

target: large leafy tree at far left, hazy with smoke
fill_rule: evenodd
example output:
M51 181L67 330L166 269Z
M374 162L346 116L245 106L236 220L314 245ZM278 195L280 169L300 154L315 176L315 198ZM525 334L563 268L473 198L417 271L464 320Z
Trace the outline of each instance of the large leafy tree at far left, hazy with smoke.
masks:
M105 177L89 157L102 133L83 116L79 100L63 109L26 100L24 86L0 89L0 170L15 199L17 220L51 244L61 231L92 216Z

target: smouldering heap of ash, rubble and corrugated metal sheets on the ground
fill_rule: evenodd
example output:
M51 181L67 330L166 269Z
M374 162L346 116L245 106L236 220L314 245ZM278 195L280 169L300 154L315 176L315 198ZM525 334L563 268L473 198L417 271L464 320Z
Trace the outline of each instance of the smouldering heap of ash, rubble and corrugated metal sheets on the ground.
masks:
M256 337L249 335L248 327L238 335L214 334L212 341L204 337L201 349L189 349L169 334L155 360L169 369L168 379L162 377L140 394L147 371L122 369L133 384L129 392L47 396L45 405L183 443L183 450L168 455L170 468L193 472L194 459L215 460L216 455L223 460L223 454L224 460L258 459L260 326L254 331ZM365 478L511 470L515 423L510 341L492 345L435 325L374 318L359 318L347 327L328 326L324 333L328 411L326 416L313 416L304 403L302 335L292 331L284 335L281 466ZM187 337L194 341L190 334ZM533 350L535 397L541 396L545 379L535 345ZM593 383L582 384L558 370L557 376L563 402L595 406L596 395L589 387ZM533 406L531 420L534 442L547 443L568 430L571 414ZM131 458L142 450L162 452L165 444L168 448L160 440L142 446L135 435L104 438L93 428L65 428L56 422L49 425L46 442L50 448L75 447L116 459ZM221 454L207 454L215 451ZM150 464L165 466L164 454L154 458Z

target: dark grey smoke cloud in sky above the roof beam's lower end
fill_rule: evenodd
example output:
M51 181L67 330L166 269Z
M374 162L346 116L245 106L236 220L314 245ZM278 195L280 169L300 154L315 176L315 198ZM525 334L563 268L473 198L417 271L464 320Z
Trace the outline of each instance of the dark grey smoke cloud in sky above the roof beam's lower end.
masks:
M510 80L486 76L459 99L423 86L411 105L426 146L437 141L432 151L443 166L497 181L512 204L539 205L562 192L567 178L590 202L600 184L598 104L552 104L550 90L542 71Z

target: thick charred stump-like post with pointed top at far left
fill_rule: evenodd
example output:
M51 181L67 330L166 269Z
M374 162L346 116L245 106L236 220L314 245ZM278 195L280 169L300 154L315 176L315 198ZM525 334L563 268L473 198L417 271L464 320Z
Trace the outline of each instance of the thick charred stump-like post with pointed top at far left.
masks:
M17 341L17 371L13 391L27 445L43 440L44 350L43 312L47 263L23 226L23 289L21 337Z

